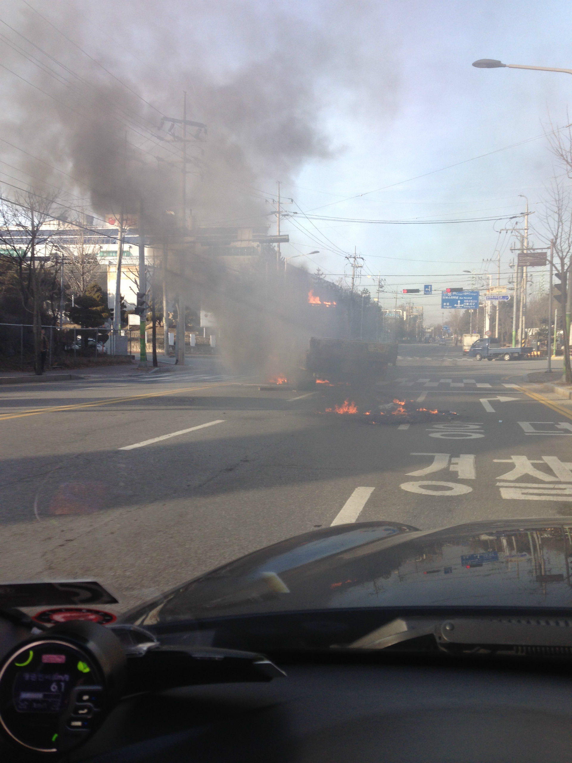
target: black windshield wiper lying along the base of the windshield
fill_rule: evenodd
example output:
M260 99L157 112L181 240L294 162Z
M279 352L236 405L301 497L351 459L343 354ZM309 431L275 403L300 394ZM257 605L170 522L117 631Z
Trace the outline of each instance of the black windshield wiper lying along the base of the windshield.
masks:
M534 647L572 655L572 618L563 617L398 617L349 644L350 649L386 649L434 636L437 645Z

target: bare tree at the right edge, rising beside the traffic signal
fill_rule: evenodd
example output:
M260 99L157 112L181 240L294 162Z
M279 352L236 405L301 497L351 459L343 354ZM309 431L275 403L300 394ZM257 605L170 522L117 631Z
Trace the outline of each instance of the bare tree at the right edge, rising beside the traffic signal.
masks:
M539 222L541 230L536 231L538 237L547 245L550 244L551 240L554 241L552 265L555 275L564 285L562 307L565 308L572 260L572 191L563 179L553 179L550 188L548 188L544 210L539 215ZM550 333L550 328L548 333ZM564 369L566 383L572 384L572 371L570 371L570 327L566 319L564 320Z

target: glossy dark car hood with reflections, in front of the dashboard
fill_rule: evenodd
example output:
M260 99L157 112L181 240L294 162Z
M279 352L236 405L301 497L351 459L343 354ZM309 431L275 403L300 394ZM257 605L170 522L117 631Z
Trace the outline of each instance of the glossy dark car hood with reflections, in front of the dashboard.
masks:
M169 626L307 610L572 607L570 520L441 530L392 522L295 536L179 585L122 620Z

